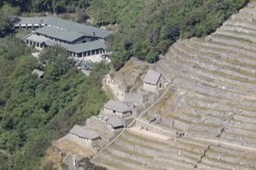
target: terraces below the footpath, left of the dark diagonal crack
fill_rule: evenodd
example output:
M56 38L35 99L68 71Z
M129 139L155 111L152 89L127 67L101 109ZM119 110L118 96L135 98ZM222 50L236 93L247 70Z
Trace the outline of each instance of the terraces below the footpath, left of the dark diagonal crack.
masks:
M132 165L140 166L142 169L147 167L147 162L150 169L191 169L206 149L206 145L189 141L163 143L158 139L150 139L127 131L118 141L111 144L107 150L104 150L102 156L96 157L93 161L100 161L101 164L101 157L111 155L112 158L117 159L119 162L124 162L124 164L129 162ZM113 153L115 155L120 153L120 155L113 156ZM126 156L121 153L125 153ZM177 155L177 153L179 154ZM140 161L140 165L136 160ZM131 169L133 168L131 167ZM134 169L137 168L134 167Z

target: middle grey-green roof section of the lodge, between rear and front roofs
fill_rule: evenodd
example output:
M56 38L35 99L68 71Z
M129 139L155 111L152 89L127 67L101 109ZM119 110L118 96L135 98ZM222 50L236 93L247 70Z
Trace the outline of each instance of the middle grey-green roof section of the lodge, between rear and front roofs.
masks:
M56 28L52 26L44 26L35 31L36 33L46 35L48 37L54 37L67 42L73 42L80 37L84 37L84 34L75 31L67 31L61 28Z

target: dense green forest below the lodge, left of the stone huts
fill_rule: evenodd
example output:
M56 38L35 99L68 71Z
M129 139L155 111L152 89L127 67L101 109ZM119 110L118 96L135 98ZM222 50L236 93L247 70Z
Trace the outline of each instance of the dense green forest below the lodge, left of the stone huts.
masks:
M52 139L96 115L106 102L97 78L108 66L97 65L101 74L86 77L61 48L42 54L43 67L14 37L0 45L19 51L0 52L0 169L38 169ZM43 79L32 74L35 68L45 71Z

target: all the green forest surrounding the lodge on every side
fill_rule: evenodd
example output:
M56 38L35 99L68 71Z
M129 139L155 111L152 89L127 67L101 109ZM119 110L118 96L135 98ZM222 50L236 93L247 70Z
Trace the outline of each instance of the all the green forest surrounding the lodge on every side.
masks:
M0 1L0 170L38 169L53 139L75 123L98 114L108 100L101 80L109 65L96 65L90 77L78 71L56 47L40 59L15 38L12 19L19 14L76 13L83 22L113 26L108 40L112 64L119 69L135 56L150 63L178 38L204 37L248 0L2 0ZM65 17L64 17L65 18ZM46 64L44 67L43 64ZM43 79L33 69L45 72Z

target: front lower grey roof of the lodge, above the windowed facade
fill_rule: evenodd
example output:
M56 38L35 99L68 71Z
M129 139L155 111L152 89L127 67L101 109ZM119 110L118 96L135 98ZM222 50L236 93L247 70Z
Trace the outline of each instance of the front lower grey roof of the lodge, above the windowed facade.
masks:
M106 45L104 42L100 41L100 40L96 40L93 42L85 42L85 43L79 43L79 44L66 44L66 43L61 43L61 42L55 42L52 40L47 40L44 42L46 45L48 46L55 46L55 45L59 45L61 46L61 48L66 48L67 51L79 54L79 53L83 53L85 51L90 51L90 50L94 50L94 49L106 49Z

